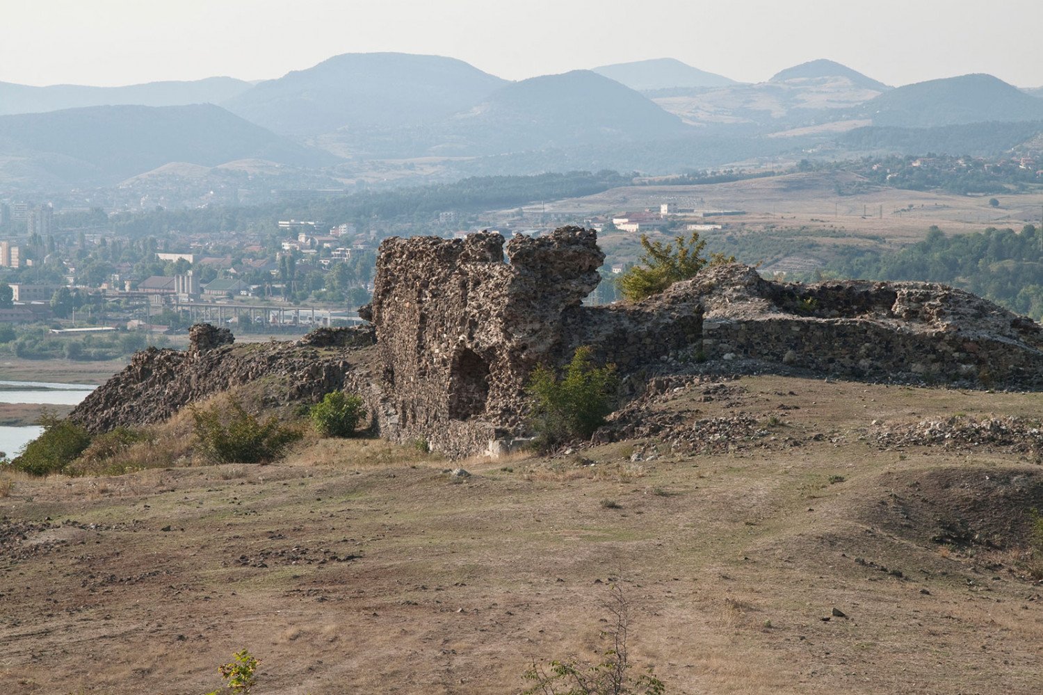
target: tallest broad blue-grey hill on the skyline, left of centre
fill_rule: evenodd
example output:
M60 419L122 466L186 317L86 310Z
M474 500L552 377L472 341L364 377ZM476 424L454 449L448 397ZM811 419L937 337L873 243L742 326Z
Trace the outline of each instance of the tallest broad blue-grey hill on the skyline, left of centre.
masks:
M224 102L284 134L401 127L469 108L507 82L462 60L406 53L345 53L267 80Z

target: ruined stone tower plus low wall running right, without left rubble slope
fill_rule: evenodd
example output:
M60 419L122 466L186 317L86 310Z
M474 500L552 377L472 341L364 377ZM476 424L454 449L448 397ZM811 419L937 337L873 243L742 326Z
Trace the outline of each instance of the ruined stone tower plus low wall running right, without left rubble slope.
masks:
M371 308L385 433L453 455L524 431L524 386L576 347L623 373L755 361L869 379L1043 388L1032 321L924 282L772 282L730 264L630 305L581 305L603 262L593 231L386 241ZM677 359L682 357L683 359Z

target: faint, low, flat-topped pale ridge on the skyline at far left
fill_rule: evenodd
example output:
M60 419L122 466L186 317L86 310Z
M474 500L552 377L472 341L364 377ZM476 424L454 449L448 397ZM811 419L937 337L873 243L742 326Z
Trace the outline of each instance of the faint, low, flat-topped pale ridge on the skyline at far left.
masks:
M29 86L0 82L0 116L117 104L179 106L218 103L250 88L249 82L232 77L208 77L188 82L146 82L126 86Z

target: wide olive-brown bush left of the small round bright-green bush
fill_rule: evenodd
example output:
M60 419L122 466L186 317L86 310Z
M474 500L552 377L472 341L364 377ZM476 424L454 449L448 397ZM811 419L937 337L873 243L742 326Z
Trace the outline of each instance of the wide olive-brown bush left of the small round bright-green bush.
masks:
M274 461L302 436L274 416L259 420L234 398L226 411L216 405L207 409L193 406L191 413L198 452L217 464Z

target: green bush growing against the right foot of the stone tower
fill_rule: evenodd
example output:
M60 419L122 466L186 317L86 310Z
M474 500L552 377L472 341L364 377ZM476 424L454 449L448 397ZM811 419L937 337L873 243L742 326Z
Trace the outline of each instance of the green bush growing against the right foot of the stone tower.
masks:
M612 412L615 366L596 367L591 353L589 346L577 348L561 378L543 365L533 371L527 388L533 399L530 424L541 448L589 439Z

